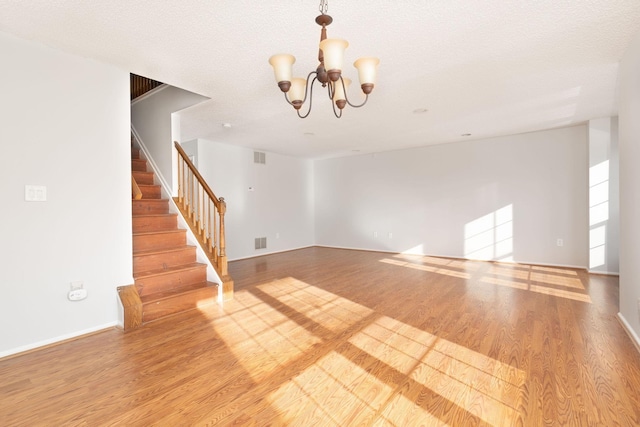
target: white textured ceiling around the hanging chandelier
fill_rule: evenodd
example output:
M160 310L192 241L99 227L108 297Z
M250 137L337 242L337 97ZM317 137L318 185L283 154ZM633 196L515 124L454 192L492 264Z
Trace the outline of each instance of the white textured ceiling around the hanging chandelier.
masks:
M267 61L291 53L294 74L315 69L318 6L3 0L0 31L210 97L181 114L185 140L326 158L615 115L618 62L640 30L638 0L334 0L329 37L349 41L347 64L380 58L376 87L338 120L318 86L302 120ZM350 65L343 74L357 81Z

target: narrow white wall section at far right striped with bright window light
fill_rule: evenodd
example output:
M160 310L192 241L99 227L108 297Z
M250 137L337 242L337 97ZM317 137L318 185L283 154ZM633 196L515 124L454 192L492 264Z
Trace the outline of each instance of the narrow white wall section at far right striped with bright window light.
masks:
M619 273L618 119L589 121L589 271Z

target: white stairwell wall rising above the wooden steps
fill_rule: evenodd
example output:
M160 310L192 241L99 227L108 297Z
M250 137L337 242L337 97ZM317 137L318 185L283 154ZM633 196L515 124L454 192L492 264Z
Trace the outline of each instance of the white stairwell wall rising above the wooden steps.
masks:
M173 189L173 168L177 164L173 141L180 140L180 118L173 113L208 99L173 86L163 86L131 104L131 123L149 150L158 178Z

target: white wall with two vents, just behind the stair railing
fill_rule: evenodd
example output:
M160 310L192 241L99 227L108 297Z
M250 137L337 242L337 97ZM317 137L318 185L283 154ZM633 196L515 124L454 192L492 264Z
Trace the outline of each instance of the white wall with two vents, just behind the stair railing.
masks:
M266 164L255 164L253 150L203 139L197 156L198 170L227 202L230 260L314 244L312 161L266 153ZM255 249L256 237L267 238L266 249Z

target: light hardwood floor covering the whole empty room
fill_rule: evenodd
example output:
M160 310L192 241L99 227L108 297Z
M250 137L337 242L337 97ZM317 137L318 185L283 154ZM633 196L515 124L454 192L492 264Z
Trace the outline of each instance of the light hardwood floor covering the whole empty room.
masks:
M640 422L617 278L318 247L229 268L223 307L0 360L0 424Z

